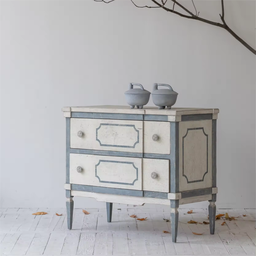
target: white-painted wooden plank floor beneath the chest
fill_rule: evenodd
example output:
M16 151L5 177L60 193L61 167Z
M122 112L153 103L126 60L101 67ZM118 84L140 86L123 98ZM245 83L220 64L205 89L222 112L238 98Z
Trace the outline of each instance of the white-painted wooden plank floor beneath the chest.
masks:
M209 225L188 224L207 221L206 209L179 209L177 243L172 243L169 209L113 209L107 223L105 209L74 210L73 229L67 229L65 209L1 209L1 255L255 255L255 210L217 210L238 217L236 221L216 220L215 234ZM33 212L46 215L35 216ZM55 212L63 216L56 216ZM136 214L139 221L129 215ZM246 214L244 217L243 214ZM204 233L201 236L192 232Z

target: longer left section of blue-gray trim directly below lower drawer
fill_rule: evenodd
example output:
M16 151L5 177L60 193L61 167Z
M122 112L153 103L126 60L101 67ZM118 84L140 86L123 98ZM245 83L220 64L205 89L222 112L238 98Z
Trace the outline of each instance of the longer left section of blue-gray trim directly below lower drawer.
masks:
M141 190L124 189L124 188L104 188L104 187L96 187L96 186L71 184L71 189L78 190L78 191L88 191L88 192L94 192L94 193L113 194L113 195L121 195L121 196L143 196L143 191Z

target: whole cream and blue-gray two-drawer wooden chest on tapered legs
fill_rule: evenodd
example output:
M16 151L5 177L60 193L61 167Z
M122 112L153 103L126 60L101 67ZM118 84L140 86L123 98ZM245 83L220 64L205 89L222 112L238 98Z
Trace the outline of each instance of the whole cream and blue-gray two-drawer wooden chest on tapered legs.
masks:
M124 106L64 107L66 197L72 228L73 197L112 204L171 207L176 242L178 207L209 201L216 212L216 120L219 109Z

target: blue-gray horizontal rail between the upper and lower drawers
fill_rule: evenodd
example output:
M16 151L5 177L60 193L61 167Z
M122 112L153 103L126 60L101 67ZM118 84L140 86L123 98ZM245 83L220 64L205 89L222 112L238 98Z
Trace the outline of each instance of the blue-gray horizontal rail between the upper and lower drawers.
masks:
M70 153L100 155L100 156L123 156L123 157L137 157L137 158L170 159L170 155L119 152L119 151L107 151L107 150L93 150L93 149L79 149L79 148L70 148Z

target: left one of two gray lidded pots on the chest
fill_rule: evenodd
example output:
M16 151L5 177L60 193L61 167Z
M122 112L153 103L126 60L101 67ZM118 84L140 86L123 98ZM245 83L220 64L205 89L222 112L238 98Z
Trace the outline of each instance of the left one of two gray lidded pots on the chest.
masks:
M133 85L140 86L140 89L133 89ZM124 92L124 95L131 108L134 108L135 106L137 106L137 108L143 108L144 105L148 104L150 92L144 90L141 84L130 83L129 90Z

